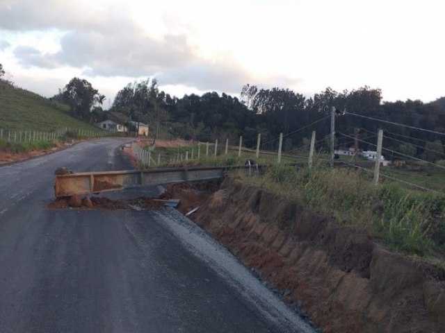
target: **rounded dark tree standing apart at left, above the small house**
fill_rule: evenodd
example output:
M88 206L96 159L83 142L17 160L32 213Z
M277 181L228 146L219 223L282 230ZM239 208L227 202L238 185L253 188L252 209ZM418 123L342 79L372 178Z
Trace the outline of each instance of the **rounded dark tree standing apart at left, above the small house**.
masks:
M90 120L90 111L98 96L101 95L97 89L85 79L72 78L63 88L63 98L70 105L72 114L84 120Z

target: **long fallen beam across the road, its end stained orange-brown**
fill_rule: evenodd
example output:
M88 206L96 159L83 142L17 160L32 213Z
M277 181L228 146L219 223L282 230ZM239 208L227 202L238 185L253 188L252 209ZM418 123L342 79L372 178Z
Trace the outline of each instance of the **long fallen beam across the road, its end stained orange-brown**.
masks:
M54 191L57 198L74 194L98 194L129 187L175 184L197 180L213 180L224 176L229 169L239 167L181 167L130 171L98 171L56 175Z

